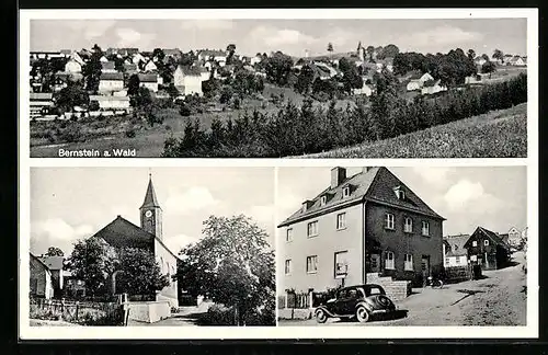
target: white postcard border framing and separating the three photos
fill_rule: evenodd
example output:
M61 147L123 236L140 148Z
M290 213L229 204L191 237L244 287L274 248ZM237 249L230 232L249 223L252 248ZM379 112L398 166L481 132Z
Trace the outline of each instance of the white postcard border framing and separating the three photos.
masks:
M502 167L527 165L527 325L525 327L80 327L36 328L28 325L28 298L21 297L22 340L95 339L482 339L538 337L538 10L537 9L224 9L224 10L21 10L20 11L20 105L28 117L28 69L31 19L527 19L528 157L525 159L65 159L30 158L30 121L19 126L20 265L28 265L30 169L31 167ZM276 169L277 171L277 169ZM277 175L277 173L276 173ZM274 188L275 191L276 188ZM276 238L277 240L277 238ZM276 248L277 250L277 248ZM532 252L533 251L533 252ZM279 265L276 257L276 272ZM28 267L20 267L21 280ZM278 274L278 273L277 273ZM277 279L276 279L277 284ZM21 283L20 295L27 295ZM276 299L277 302L277 299ZM276 307L277 311L277 307ZM387 331L388 330L388 331Z

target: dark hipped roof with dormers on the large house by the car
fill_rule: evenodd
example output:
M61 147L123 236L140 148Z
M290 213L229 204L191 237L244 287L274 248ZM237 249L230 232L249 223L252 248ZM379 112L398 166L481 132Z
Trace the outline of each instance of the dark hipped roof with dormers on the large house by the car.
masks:
M351 194L349 197L343 197L343 188L349 185L352 186ZM396 196L393 192L393 187L396 186L404 188L406 199L402 201ZM324 205L321 205L320 197L324 194L330 194L332 197ZM346 178L339 186L334 188L331 188L331 186L327 187L310 202L311 204L306 210L299 208L287 217L278 227L288 226L362 202L386 205L444 219L385 167L369 168L367 171Z

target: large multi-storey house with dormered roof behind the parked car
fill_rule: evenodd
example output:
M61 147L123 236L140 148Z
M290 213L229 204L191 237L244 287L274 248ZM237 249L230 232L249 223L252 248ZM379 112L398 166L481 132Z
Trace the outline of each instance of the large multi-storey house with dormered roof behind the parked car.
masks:
M277 226L281 289L419 283L442 270L444 220L387 168L333 168L330 185Z

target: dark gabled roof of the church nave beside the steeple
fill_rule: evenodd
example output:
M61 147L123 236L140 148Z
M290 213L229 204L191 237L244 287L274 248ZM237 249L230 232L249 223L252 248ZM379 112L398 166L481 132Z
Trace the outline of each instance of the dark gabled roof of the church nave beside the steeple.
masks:
M124 217L117 216L112 222L98 231L93 237L102 238L114 248L141 248L152 249L157 240L171 255L178 257L155 234L132 224ZM92 238L93 238L92 237Z

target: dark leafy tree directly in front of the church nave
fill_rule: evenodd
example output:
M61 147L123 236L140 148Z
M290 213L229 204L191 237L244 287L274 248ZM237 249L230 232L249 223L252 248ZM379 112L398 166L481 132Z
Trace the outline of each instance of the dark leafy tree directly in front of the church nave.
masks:
M129 295L155 296L171 284L171 275L161 274L155 254L146 249L122 249L117 270L116 288Z

